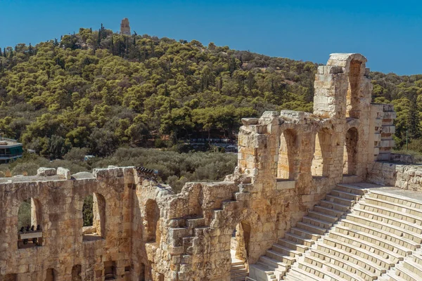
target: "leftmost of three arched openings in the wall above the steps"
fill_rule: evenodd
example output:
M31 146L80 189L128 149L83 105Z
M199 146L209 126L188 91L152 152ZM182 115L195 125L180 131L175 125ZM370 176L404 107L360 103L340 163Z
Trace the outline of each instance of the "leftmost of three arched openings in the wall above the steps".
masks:
M297 153L298 135L287 129L280 136L279 160L277 162L277 179L295 179L295 157Z

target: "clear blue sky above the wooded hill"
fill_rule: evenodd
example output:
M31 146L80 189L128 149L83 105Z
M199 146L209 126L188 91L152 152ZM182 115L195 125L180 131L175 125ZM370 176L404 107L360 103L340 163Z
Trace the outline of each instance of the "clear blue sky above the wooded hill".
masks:
M388 0L0 0L0 46L37 44L101 22L117 32L129 18L138 34L316 63L330 53L362 53L371 70L420 74L421 13L420 1Z

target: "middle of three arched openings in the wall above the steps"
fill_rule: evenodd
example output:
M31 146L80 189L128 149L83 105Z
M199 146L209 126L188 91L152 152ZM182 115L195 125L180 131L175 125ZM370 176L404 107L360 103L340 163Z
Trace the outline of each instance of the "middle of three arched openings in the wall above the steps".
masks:
M328 176L331 162L331 138L328 129L322 129L315 136L314 158L312 159L311 173L313 177Z

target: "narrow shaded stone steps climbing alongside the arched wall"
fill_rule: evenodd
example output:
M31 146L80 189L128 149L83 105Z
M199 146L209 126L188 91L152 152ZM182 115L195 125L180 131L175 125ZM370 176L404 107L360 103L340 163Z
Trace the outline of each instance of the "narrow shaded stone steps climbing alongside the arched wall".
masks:
M364 195L362 188L339 184L309 211L301 222L296 223L284 238L279 239L261 256L257 263L250 265L250 276L255 280L281 280L298 259L312 247L321 236L341 218ZM300 276L307 268L300 266L289 271L290 280L309 280ZM293 271L294 270L294 271Z

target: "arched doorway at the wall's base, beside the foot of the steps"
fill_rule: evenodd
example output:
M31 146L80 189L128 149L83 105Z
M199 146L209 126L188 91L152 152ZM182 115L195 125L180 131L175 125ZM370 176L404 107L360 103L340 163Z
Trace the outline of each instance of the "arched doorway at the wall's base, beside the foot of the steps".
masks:
M250 223L242 221L234 229L230 242L231 279L238 280L248 273L245 264L248 263L250 244Z

